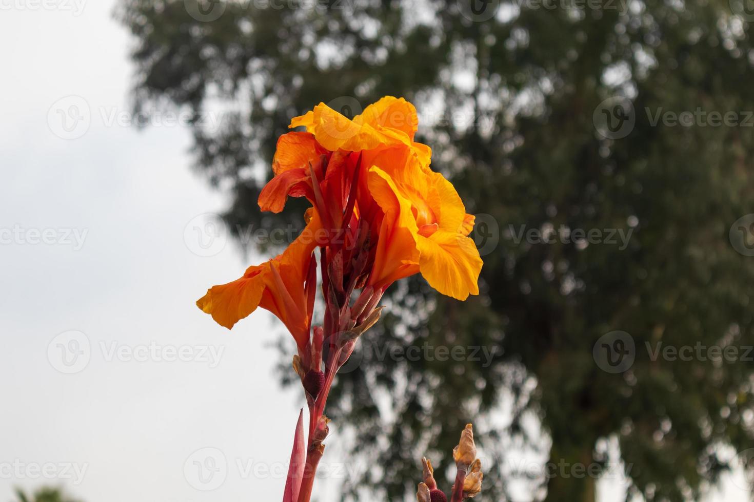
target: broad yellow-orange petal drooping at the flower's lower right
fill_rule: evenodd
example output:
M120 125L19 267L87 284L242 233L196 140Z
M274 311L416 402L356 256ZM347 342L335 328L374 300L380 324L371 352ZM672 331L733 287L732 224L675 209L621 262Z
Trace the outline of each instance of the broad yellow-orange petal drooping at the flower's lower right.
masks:
M479 294L482 259L472 239L437 230L429 238L418 236L416 245L421 253L419 270L432 288L457 300Z

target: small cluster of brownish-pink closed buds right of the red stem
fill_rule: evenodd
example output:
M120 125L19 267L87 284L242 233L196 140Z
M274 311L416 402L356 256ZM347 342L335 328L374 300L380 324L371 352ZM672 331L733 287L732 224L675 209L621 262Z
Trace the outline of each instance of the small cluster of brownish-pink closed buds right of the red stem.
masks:
M458 446L453 449L453 460L458 472L451 491L450 502L462 502L474 498L482 491L482 462L477 458L477 446L474 444L474 430L468 424L461 433ZM419 483L416 491L418 502L447 502L446 494L437 488L432 463L427 458L421 459L424 467L424 482Z

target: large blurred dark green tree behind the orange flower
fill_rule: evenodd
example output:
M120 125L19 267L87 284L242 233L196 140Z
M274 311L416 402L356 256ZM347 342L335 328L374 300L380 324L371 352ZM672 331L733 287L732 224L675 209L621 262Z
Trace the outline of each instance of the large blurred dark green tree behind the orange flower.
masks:
M411 499L421 454L446 472L471 420L494 463L485 500L516 479L510 438L541 446L539 431L553 466L608 467L617 443L627 497L646 500L697 499L728 467L720 446L751 446L754 227L731 230L754 211L749 14L739 0L124 0L136 108L193 114L231 228L300 225L303 206L256 206L290 117L388 94L418 106L434 169L480 214L480 297L394 288L384 333L339 379L329 415L357 424L351 458L367 466L344 499ZM425 343L492 355L389 355ZM740 353L655 356L697 343ZM550 473L534 497L595 500L595 476Z

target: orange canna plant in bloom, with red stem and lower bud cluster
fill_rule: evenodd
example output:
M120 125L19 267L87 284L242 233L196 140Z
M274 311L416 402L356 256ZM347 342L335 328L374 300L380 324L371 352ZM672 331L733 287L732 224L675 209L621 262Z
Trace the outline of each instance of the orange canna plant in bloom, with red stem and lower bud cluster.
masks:
M293 368L310 417L304 471L311 475L293 470L290 493L298 490L304 502L311 497L324 448L323 411L333 378L358 337L379 319L382 294L394 281L421 273L440 293L465 300L479 294L482 260L468 237L474 216L466 213L452 184L430 169L431 149L414 141L418 117L411 103L386 96L353 120L320 103L291 120L290 127L296 126L305 131L277 141L274 178L259 194L259 208L279 212L289 196L305 197L312 205L305 230L274 259L207 290L197 305L228 329L261 306L296 339ZM312 330L317 247L325 312L322 325ZM299 424L297 438L300 429ZM464 434L470 437L470 430ZM463 450L466 443L462 437L461 450L454 451L458 462L474 459ZM480 469L465 482L461 474L468 465L463 467L453 502L480 489ZM418 500L446 500L429 461L425 483L419 485Z

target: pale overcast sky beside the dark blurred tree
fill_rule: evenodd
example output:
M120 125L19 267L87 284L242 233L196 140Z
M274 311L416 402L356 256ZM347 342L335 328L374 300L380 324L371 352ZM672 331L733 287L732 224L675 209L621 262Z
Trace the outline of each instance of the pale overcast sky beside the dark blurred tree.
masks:
M280 328L259 311L231 334L196 309L256 257L207 240L201 214L224 199L189 169L188 129L112 120L132 76L114 5L0 0L0 502L40 485L84 502L280 500L300 404L274 375ZM727 486L719 500L746 500Z

